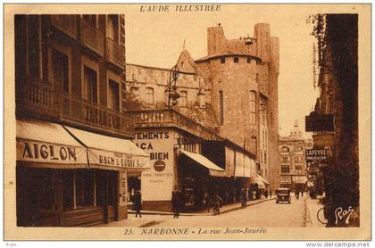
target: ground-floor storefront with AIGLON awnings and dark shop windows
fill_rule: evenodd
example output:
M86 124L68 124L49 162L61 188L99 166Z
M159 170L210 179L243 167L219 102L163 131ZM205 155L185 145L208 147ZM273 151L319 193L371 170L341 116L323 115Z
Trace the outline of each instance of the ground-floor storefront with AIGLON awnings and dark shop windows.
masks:
M127 171L149 168L129 140L17 120L18 226L84 226L127 217Z

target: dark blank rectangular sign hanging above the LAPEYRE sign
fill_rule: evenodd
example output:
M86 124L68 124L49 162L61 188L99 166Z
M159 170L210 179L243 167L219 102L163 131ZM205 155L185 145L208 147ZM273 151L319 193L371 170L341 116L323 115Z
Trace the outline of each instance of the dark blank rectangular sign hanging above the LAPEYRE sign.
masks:
M314 114L305 116L306 132L333 131L333 114Z

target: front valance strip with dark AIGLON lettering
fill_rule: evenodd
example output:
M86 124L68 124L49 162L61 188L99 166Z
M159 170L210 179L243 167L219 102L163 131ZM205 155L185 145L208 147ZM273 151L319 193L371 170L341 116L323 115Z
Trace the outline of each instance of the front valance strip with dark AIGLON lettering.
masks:
M61 164L87 163L85 148L17 140L17 160Z

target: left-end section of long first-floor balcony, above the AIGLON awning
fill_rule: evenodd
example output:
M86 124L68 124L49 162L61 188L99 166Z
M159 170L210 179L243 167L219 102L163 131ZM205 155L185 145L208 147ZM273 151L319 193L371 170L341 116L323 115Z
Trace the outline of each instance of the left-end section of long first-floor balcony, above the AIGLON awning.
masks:
M16 91L16 106L22 112L41 112L57 115L55 92L52 85L40 79L26 79L25 84L18 84Z

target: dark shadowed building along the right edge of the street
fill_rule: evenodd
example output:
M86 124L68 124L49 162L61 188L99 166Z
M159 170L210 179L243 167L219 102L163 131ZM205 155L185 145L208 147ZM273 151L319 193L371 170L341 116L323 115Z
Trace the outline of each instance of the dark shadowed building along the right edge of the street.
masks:
M320 161L322 187L329 207L328 226L335 223L334 210L352 206L349 226L359 226L358 160L358 15L320 14L315 17L321 95L306 117L314 148L326 149ZM342 33L345 30L345 34Z

